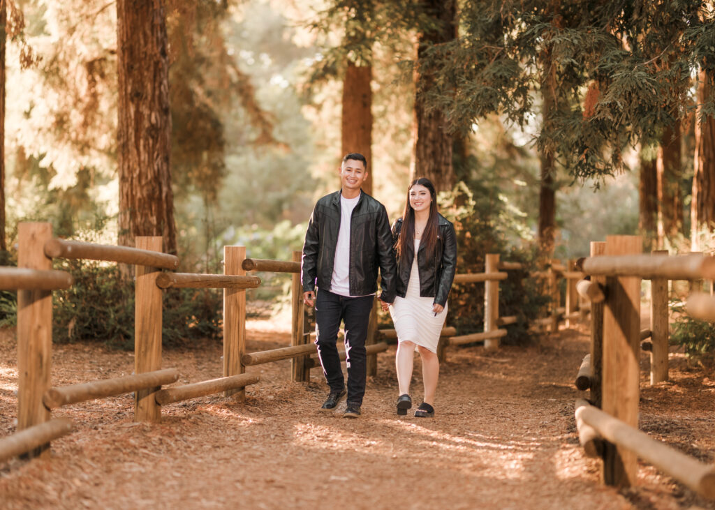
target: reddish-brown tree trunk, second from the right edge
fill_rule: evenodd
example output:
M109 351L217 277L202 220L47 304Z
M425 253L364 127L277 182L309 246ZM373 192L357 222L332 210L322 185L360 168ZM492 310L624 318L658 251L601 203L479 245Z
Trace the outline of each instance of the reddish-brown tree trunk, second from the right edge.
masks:
M680 181L681 132L680 121L666 126L658 151L658 246L664 247L665 239L679 234L683 228L683 194Z

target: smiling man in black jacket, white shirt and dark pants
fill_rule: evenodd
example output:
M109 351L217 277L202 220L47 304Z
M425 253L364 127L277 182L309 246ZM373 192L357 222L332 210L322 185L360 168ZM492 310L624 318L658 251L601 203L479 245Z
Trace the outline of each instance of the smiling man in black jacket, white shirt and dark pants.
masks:
M322 409L334 409L345 396L335 345L340 321L345 321L345 418L360 416L363 405L365 339L377 291L378 268L383 289L380 300L392 303L395 299L396 269L388 214L383 204L360 189L368 177L367 163L362 154L347 154L342 159L342 189L315 204L302 255L303 301L315 306L315 345L330 386Z

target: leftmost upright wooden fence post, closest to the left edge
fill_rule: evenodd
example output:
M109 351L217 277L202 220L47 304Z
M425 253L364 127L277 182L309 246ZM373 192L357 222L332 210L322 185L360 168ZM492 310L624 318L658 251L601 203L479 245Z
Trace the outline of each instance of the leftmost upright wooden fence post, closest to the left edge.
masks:
M49 223L18 225L17 266L27 269L52 269L44 254L44 244L52 239ZM17 430L49 420L42 404L44 392L51 386L52 291L17 291ZM49 459L49 443L28 456Z

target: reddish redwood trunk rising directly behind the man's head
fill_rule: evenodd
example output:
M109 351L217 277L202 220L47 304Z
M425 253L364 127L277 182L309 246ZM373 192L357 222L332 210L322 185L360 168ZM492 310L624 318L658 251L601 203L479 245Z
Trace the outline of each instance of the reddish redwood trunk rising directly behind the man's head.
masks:
M342 81L342 155L359 152L368 160L365 193L373 193L373 80L372 66L347 62Z

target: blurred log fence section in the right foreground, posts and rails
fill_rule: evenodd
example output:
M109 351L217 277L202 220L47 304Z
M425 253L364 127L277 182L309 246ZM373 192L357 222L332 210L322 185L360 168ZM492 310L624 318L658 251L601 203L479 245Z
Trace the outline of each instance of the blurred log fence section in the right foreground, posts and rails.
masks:
M651 384L668 378L668 280L714 280L715 258L702 254L641 254L640 236L607 236L591 243L579 261L590 280L578 291L591 301L591 353L576 386L590 399L576 401L576 425L586 454L603 459L603 481L625 487L636 482L636 456L690 489L715 498L715 467L703 464L638 430L641 341L651 338ZM641 279L651 280L651 329L641 330ZM715 319L715 298L691 296L688 311Z

